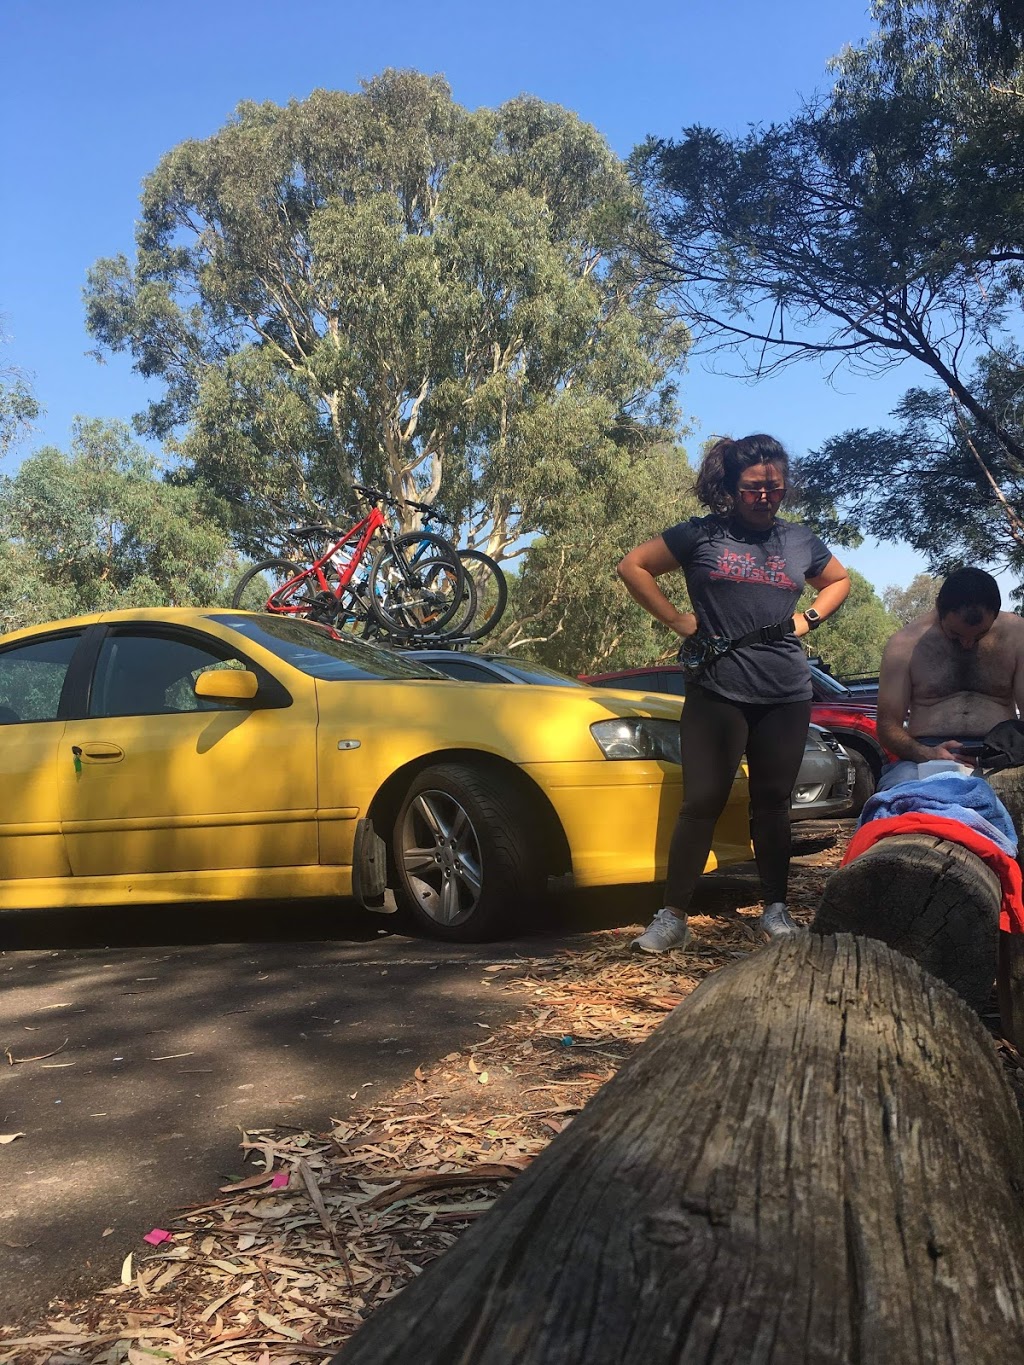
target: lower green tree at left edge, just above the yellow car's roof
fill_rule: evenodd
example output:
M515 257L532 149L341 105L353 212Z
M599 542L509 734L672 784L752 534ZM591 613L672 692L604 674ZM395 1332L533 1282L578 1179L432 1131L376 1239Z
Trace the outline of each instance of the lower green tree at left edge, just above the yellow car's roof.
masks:
M0 483L0 628L119 606L224 601L235 571L216 508L160 478L120 422L79 420Z

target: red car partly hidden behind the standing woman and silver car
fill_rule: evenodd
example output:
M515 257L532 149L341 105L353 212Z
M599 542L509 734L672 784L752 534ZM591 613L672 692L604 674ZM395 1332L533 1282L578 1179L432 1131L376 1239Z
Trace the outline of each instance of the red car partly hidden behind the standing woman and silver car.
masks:
M580 673L582 682L594 687L628 688L635 692L669 692L683 696L687 680L677 663L653 663L646 669L624 669L620 673ZM874 703L855 700L855 693L829 673L811 665L811 721L831 730L856 771L852 809L856 815L871 796L889 755L878 741Z

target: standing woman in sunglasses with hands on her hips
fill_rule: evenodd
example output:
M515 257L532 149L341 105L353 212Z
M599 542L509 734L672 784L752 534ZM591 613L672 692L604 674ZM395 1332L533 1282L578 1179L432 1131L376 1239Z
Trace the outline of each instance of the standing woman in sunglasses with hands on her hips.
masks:
M687 946L689 898L744 749L760 924L770 935L797 928L786 906L789 799L811 719L811 672L799 640L842 605L849 576L812 531L778 516L788 478L789 459L773 437L717 441L696 476L696 495L710 516L669 527L618 564L632 597L684 642L698 629L740 642L713 658L699 681L687 682L683 809L669 848L665 905L634 939L644 953ZM694 612L677 612L658 584L680 568ZM804 583L818 597L793 616ZM769 632L776 639L743 640L780 622Z

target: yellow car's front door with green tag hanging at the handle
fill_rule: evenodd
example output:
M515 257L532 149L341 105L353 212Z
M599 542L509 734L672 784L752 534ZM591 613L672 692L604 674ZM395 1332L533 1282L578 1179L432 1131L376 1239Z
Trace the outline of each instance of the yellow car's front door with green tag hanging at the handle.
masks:
M221 667L257 672L253 703L195 695L195 678ZM311 682L306 691L285 691L216 636L108 628L86 714L68 721L61 741L74 875L315 864L317 710Z

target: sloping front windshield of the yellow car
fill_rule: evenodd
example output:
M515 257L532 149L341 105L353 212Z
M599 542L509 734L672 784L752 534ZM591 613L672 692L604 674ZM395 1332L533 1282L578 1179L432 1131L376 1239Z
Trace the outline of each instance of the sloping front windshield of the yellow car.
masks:
M339 635L313 621L299 621L287 616L210 616L212 621L262 644L279 659L326 682L351 682L373 678L437 678L440 674L425 663L416 663L390 650L365 640Z

